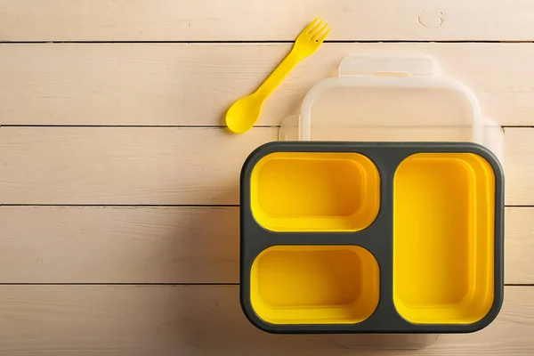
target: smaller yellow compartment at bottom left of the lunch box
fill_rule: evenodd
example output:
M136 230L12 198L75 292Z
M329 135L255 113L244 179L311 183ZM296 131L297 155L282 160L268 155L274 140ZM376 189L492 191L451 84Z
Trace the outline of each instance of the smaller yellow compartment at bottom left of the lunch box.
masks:
M250 294L272 324L357 323L378 304L378 263L363 247L270 247L252 265Z

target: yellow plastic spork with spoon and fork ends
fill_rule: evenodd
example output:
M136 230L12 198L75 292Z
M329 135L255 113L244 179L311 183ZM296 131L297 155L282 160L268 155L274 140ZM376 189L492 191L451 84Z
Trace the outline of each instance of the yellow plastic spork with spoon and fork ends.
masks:
M274 69L262 85L244 98L239 99L226 112L226 125L235 134L247 132L260 117L263 102L276 89L282 80L295 68L299 61L317 51L328 36L330 28L323 20L315 19L296 37L293 49Z

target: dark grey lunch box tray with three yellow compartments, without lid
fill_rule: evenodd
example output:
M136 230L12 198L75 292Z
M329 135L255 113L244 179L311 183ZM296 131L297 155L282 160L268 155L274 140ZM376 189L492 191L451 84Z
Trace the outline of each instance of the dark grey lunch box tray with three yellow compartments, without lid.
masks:
M473 142L271 142L241 172L240 299L273 333L462 333L503 302L504 174Z

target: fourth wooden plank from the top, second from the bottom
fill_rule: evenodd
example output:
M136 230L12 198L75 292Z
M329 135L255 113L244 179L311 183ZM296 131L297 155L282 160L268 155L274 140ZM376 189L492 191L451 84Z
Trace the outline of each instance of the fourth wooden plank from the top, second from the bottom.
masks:
M0 226L0 283L239 283L237 206L0 206ZM534 284L534 207L505 226L505 282Z

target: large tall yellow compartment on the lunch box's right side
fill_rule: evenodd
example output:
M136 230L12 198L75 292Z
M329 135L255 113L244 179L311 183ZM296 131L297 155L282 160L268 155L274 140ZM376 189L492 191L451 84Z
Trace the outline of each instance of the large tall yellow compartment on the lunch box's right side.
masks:
M494 297L495 174L473 153L417 153L393 184L393 302L420 324L471 324Z

